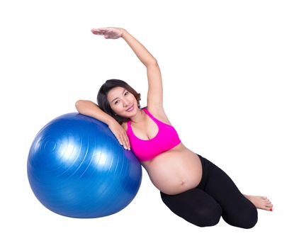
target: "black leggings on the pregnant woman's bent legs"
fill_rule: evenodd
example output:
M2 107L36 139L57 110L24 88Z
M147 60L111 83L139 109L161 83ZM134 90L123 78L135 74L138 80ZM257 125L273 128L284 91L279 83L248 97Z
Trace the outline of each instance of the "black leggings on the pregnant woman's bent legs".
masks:
M183 193L161 193L162 201L179 217L199 227L216 225L220 217L230 225L252 228L257 222L254 204L245 198L227 174L201 157L201 183Z

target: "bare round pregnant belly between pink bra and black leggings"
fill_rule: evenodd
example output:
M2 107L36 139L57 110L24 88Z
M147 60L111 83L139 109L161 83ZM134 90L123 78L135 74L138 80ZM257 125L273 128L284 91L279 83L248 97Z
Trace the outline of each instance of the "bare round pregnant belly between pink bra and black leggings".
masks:
M201 182L202 165L198 155L180 143L154 159L142 162L154 186L174 195L195 188Z

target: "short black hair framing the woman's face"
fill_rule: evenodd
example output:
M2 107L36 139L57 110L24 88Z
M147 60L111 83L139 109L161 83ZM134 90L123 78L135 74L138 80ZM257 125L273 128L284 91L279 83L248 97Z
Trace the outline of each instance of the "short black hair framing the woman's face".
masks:
M140 108L140 96L141 96L140 93L137 93L137 91L135 91L135 89L132 89L132 87L129 84L127 84L125 81L120 79L108 79L105 82L105 84L103 84L99 89L96 100L98 101L98 107L101 108L101 110L104 111L105 113L108 113L108 115L111 115L121 125L124 122L125 123L128 122L130 118L125 118L120 115L115 115L107 98L108 92L111 89L118 86L127 89L131 94L133 94L137 100L138 108Z

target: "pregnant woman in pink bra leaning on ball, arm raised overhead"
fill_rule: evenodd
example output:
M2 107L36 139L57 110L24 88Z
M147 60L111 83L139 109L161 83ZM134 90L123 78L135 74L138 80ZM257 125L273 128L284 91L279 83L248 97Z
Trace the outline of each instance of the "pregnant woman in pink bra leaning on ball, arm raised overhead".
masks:
M252 228L256 208L272 211L264 196L242 194L222 169L181 142L163 108L162 76L157 60L123 28L95 28L94 35L123 38L147 68L147 106L125 81L110 79L98 91L98 104L79 100L79 113L106 123L124 149L135 153L162 201L176 215L199 227L222 217L235 227Z

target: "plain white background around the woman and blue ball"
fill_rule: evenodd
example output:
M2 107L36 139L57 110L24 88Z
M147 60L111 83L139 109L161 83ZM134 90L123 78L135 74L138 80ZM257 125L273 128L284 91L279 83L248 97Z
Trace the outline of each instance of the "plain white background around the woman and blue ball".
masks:
M271 247L298 233L297 1L1 1L1 247ZM244 230L196 227L162 203L143 169L127 208L96 219L52 213L30 189L33 138L79 99L123 79L146 106L147 74L125 28L158 60L182 142L274 211ZM297 229L297 231L295 231Z

